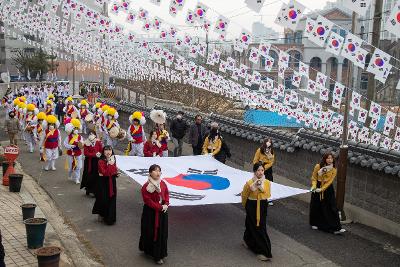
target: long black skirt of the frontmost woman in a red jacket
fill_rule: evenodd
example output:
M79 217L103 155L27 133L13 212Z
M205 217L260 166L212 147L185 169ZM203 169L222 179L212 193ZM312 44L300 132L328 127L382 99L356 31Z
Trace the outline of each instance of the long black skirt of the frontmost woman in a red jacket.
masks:
M154 224L156 212L159 213L159 223L156 240L154 240ZM139 250L159 261L168 256L168 212L155 211L147 205L143 206L141 220Z

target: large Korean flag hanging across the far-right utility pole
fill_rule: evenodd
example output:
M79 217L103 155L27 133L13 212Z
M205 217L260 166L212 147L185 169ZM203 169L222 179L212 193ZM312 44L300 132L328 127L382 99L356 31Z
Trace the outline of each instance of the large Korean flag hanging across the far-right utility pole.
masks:
M389 76L392 65L389 63L390 56L382 50L375 48L374 54L369 62L367 71L375 74L375 79L385 83Z

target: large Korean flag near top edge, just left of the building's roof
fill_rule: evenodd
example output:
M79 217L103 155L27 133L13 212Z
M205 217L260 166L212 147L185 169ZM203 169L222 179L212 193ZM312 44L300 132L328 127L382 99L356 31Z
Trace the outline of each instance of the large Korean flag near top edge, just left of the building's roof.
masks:
M304 9L305 7L297 1L289 2L288 5L283 3L275 23L295 31Z

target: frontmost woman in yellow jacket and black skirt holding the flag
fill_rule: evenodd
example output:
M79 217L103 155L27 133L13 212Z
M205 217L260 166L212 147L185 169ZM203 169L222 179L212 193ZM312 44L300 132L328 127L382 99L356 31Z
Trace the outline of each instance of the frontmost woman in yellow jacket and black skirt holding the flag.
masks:
M242 205L246 210L246 230L243 246L257 254L261 261L272 258L271 241L267 234L268 198L271 197L271 182L264 177L263 164L253 166L254 176L247 181L242 191Z

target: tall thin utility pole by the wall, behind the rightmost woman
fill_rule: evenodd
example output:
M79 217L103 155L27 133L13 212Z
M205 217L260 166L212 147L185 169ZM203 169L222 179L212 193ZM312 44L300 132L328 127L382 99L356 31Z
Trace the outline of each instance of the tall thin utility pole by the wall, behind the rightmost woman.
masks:
M354 34L356 30L356 20L357 14L353 11L351 22L351 33ZM349 105L350 105L350 89L353 84L353 62L348 61L347 69L347 88L345 90L345 107L343 116L343 133L342 133L342 143L339 149L339 159L338 159L338 172L337 172L337 184L336 184L336 206L339 210L339 217L341 221L346 220L346 214L344 212L344 195L346 192L346 176L347 176L347 156L349 154L348 145L348 132L349 132Z

